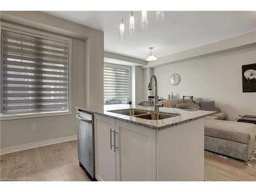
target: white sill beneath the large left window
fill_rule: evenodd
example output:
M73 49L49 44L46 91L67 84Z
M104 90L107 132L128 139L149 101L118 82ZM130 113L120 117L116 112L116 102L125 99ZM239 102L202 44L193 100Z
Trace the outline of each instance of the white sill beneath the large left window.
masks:
M0 121L14 120L14 119L27 119L27 118L37 118L37 117L51 117L57 115L71 115L71 111L62 112L41 112L41 113L30 113L30 114L15 114L15 115L1 115Z

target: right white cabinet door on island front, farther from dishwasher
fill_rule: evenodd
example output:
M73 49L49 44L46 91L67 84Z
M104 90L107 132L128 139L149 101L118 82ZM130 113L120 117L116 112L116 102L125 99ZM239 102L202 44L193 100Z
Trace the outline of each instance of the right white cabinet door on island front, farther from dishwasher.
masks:
M117 181L156 181L156 130L116 120Z

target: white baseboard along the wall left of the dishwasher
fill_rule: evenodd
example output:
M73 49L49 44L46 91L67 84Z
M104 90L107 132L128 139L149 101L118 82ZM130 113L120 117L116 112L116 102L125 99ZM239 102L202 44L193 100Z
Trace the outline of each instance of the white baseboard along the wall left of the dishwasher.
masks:
M30 148L36 148L36 147L46 146L46 145L51 145L51 144L56 144L56 143L63 143L63 142L73 141L73 140L77 140L77 135L1 148L0 155L5 155L5 154L9 154L9 153L29 150Z

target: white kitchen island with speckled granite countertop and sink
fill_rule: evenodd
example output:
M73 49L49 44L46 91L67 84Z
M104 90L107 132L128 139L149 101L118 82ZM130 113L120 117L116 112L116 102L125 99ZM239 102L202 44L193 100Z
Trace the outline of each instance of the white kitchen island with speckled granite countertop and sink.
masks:
M98 181L204 181L204 117L216 112L112 104L94 114Z

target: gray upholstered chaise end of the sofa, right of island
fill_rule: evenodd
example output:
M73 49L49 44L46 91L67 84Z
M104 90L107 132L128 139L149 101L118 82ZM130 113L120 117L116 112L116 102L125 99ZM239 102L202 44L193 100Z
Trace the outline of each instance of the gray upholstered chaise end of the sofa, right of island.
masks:
M256 125L205 119L205 150L247 161L255 147Z

